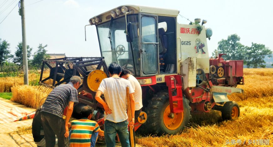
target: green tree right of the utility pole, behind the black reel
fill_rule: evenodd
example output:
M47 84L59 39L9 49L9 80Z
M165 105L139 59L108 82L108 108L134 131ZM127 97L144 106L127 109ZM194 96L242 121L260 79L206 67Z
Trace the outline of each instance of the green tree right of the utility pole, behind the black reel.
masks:
M45 49L45 47L47 47L47 44L43 46L43 44L40 43L38 46L38 50L35 51L33 55L33 60L31 62L34 67L39 68L42 65L42 60L46 60L50 57L48 54L46 54L47 50Z

